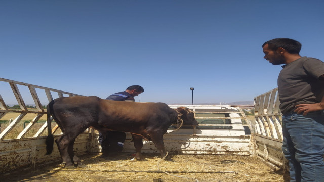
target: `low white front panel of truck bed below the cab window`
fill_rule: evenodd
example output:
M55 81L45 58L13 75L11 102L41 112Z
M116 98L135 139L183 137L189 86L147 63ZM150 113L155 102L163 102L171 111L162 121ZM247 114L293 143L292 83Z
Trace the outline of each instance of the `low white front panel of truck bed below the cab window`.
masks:
M249 142L249 136L224 138L224 136L194 136L176 133L164 135L166 150L179 154L251 155ZM143 141L143 143L142 152L159 152L153 142ZM129 134L127 134L123 151L135 151L132 137Z

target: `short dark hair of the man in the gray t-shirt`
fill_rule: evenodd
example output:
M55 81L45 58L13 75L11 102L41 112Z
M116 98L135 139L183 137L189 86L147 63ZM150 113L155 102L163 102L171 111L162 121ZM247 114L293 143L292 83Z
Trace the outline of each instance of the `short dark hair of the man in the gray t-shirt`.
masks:
M276 51L278 48L284 48L290 54L299 54L302 44L296 40L290 38L275 38L263 43L264 45L268 44L268 47L272 51Z

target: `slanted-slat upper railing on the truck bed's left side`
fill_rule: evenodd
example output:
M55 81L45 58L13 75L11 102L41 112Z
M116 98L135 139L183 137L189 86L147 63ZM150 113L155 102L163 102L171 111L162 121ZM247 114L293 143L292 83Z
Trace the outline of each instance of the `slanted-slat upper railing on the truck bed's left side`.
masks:
M73 94L69 92L64 92L62 90L57 90L53 88L47 88L43 86L37 86L33 84L23 83L19 81L9 80L0 78L0 82L7 82L9 86L11 87L12 93L14 94L17 103L20 107L19 110L17 109L10 109L7 107L4 99L1 96L1 92L5 92L8 90L5 90L4 88L0 89L0 119L5 116L7 113L20 113L7 127L0 133L0 141L4 140L5 136L21 121L27 114L37 114L36 117L32 119L32 121L24 127L24 129L19 133L16 139L22 139L26 133L34 126L34 124L44 115L47 114L47 111L43 108L43 105L47 105L47 101L43 101L44 104L42 104L41 100L39 99L38 95L39 92L45 92L47 100L52 101L53 95L52 93L57 93L58 97L64 97L64 95L67 95L68 97L72 96L80 96L78 94ZM36 111L28 110L26 107L24 98L22 94L20 93L20 90L18 88L18 85L22 87L27 87L29 89L30 95L35 103ZM37 88L37 90L36 90ZM10 88L9 88L10 89ZM10 90L9 90L10 91ZM47 128L47 122L44 123L44 125L37 131L37 133L34 135L34 137L40 136L43 131Z

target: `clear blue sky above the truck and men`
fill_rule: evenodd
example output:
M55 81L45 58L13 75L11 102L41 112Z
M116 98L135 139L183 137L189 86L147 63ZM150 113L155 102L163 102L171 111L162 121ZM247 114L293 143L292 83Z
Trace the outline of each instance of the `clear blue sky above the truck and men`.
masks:
M301 56L324 60L323 7L324 1L2 0L0 77L103 99L138 84L145 92L137 102L190 104L190 87L194 103L253 101L277 87L281 70L263 59L265 41L293 38L302 43Z

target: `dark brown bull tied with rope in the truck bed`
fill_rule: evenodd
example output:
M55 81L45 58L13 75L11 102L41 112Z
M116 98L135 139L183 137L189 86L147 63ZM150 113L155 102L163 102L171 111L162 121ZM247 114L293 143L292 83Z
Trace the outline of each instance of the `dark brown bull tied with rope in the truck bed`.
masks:
M46 139L46 154L53 151L52 115L63 132L55 142L66 167L80 162L74 155L73 144L76 137L89 127L102 133L107 130L131 133L136 149L135 158L141 160L143 138L153 141L161 156L166 155L163 134L171 124L177 122L178 116L183 124L198 125L194 113L186 107L171 109L165 103L118 102L96 96L57 98L48 104L47 111L49 135Z

